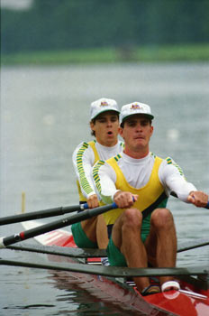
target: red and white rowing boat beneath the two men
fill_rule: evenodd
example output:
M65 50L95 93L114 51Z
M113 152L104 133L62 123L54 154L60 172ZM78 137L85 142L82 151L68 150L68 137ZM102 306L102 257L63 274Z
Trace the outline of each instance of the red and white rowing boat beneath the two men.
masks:
M39 226L37 221L23 223L24 228ZM75 245L72 234L69 230L57 229L35 237L42 246L60 246L66 249L73 249ZM64 250L64 248L63 248ZM78 249L77 249L78 250ZM75 258L66 256L49 255L48 259L53 262L75 263ZM142 297L138 293L132 280L126 277L109 277L98 274L84 274L82 266L101 265L101 259L91 257L79 259L80 272L65 272L73 275L79 286L89 290L106 302L120 304L125 310L141 311L145 315L180 315L180 316L206 316L209 315L209 275L208 271L201 275L178 275L180 291L169 291L167 293L156 293ZM97 266L94 268L96 271ZM105 268L104 267L103 271ZM94 271L93 269L93 271ZM111 267L111 269L116 269ZM101 273L102 274L102 273ZM156 279L156 278L155 278Z

